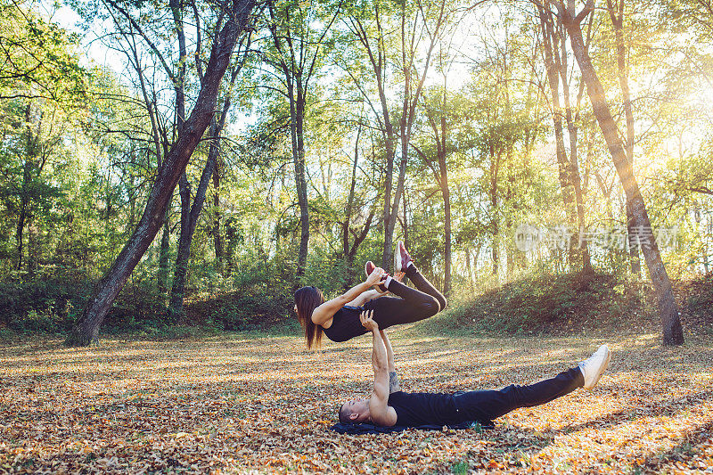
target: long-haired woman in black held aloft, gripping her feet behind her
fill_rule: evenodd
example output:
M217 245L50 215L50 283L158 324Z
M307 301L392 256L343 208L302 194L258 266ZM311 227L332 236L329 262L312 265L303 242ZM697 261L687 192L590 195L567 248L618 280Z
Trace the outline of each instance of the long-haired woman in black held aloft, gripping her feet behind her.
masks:
M418 272L403 242L396 247L396 277L384 273L369 261L365 265L366 280L343 295L324 301L316 287L302 287L295 292L295 313L305 329L307 348L319 346L322 335L332 341L346 341L363 335L367 330L359 320L364 310L373 311L373 320L382 330L398 323L413 323L436 315L446 307L446 298ZM399 281L406 275L416 289ZM375 286L374 291L369 289ZM390 291L395 297L381 297Z

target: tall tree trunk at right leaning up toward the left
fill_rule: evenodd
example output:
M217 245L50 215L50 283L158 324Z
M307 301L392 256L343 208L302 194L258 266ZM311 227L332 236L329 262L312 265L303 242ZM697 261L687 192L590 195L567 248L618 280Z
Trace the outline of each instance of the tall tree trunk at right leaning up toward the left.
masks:
M582 73L582 80L586 83L586 91L589 94L589 99L592 101L594 116L602 129L602 135L606 141L611 159L614 162L614 167L617 168L619 179L624 187L624 192L627 193L627 201L631 203L634 225L637 230L647 233L652 236L652 227L649 215L646 212L646 206L643 202L643 197L639 190L639 185L636 183L631 163L627 160L627 154L624 146L621 143L617 125L611 117L609 104L606 102L606 96L602 83L594 71L594 66L587 53L584 40L582 38L582 29L580 22L586 15L594 9L593 2L587 2L585 10L580 12L576 17L573 12L570 12L560 2L560 12L565 28L570 34L570 42L572 51L579 65L579 70ZM643 258L646 266L649 268L649 274L652 276L653 287L656 291L656 297L659 300L659 315L663 326L663 343L664 345L680 345L684 342L683 331L681 330L681 322L678 318L678 307L671 289L671 282L668 279L666 267L661 260L659 246L654 239L651 239L650 245L642 246Z

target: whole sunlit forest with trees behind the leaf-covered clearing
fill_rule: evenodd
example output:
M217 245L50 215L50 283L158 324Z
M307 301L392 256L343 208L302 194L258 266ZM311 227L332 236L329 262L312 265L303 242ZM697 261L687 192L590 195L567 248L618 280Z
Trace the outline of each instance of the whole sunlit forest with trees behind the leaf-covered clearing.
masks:
M710 333L711 34L704 0L5 1L0 334L299 332L292 291L399 240L453 328Z

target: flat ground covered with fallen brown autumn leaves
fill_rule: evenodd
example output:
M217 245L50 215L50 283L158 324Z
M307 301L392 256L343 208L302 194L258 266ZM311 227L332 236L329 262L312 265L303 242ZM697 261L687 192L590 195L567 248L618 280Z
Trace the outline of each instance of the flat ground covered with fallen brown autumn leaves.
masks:
M402 389L537 381L603 341L592 391L520 409L496 429L343 436L340 401L371 383L368 337L307 352L298 337L59 340L0 347L0 471L713 471L713 343L658 335L445 338L391 332Z

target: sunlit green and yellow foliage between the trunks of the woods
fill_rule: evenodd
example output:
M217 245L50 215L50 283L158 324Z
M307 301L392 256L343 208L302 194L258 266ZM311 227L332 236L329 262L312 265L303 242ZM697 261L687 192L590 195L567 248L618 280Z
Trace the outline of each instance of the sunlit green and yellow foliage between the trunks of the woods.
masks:
M122 15L112 23L105 3L70 4L87 25L94 18L107 20L97 36L133 57L119 28L137 33L128 29ZM166 4L117 4L155 40L157 50L146 45L136 50L135 61L141 62L139 70L148 82L141 83L130 64L120 74L82 68L78 37L33 12L37 3L0 6L0 332L66 331L141 216L157 159L165 152L157 149L168 149L173 141L175 91L164 73L176 70L179 62ZM684 278L713 266L713 142L706 95L713 62L697 46L709 38L709 29L701 27L709 26L711 18L695 2L655 4L656 18L637 4L641 8L632 8L626 19L638 134L635 175L653 225L678 227L676 247L662 255L668 274ZM312 284L333 297L363 278L365 260L381 264L387 172L383 117L389 114L398 143L403 133L399 121L405 119L401 107L408 99L403 86L406 78L411 86L419 79L423 42L427 30L432 31L438 3L419 5L280 0L254 20L257 34L250 47L257 53L247 56L235 83L239 93L220 142L218 179L209 187L192 244L182 325L221 331L290 328L294 289ZM193 7L184 6L188 25ZM216 6L195 6L205 40L213 33ZM409 47L401 43L402 7L406 29L417 32L418 43L414 64L407 69L402 64L408 61L402 47ZM656 303L631 278L624 251L592 247L599 274L580 278L569 274L579 264L570 262L564 251L543 246L525 254L515 249L512 234L520 223L552 227L565 224L567 216L552 148L553 111L543 94L538 25L527 14L511 14L511 8L502 3L472 7L462 12L461 20L448 16L439 29L442 37L414 111L395 240L406 240L424 274L445 286L446 204L440 186L444 176L438 172L447 171L455 291L449 296L452 309L434 320L438 328L540 332L568 328L570 320L576 327L600 316L614 322L653 315ZM529 7L517 8L520 13ZM382 55L385 110L372 59L355 36L357 21L372 53ZM607 99L619 108L607 12L596 12L595 25L590 52L602 71ZM269 31L273 27L283 45L289 36L297 47L277 51ZM480 36L471 27L489 33ZM689 45L679 49L681 38L688 37L699 41L685 41ZM652 47L652 41L661 44ZM204 41L204 50L206 45ZM158 53L165 55L166 68ZM205 53L198 52L198 64ZM188 63L188 102L200 84L195 61ZM578 72L576 66L568 69L574 102ZM292 102L305 107L299 111L299 140L304 140L310 240L305 274L299 278L300 213L291 135L296 124L291 124L286 100L289 86L293 94L301 87L301 102ZM582 94L574 113L585 224L591 229L624 225L619 177L584 90ZM198 183L211 142L203 137L196 149L186 168L189 183ZM168 209L168 252L160 250L157 240L143 256L112 307L107 320L111 332L172 334L156 274L162 252L169 262L175 258L179 216L175 199ZM367 217L371 227L349 257ZM222 240L222 255L217 255L216 238ZM498 266L492 261L494 248ZM646 281L645 272L641 279ZM482 284L479 295L462 298L475 283ZM688 314L706 320L708 288L691 289L679 303Z

